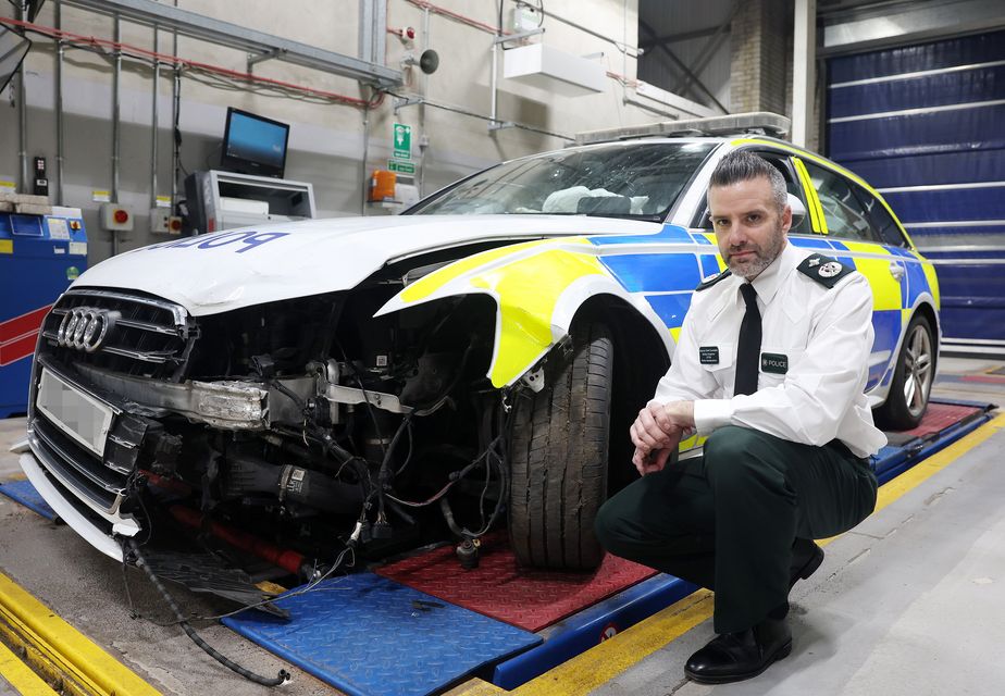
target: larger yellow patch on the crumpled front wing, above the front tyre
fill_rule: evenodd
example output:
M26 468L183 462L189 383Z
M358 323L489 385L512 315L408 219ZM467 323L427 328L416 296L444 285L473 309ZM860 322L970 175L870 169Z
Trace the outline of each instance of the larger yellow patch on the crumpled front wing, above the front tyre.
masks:
M574 281L607 275L593 254L550 249L489 269L471 278L499 303L496 359L488 377L502 387L519 377L553 344L551 315Z

